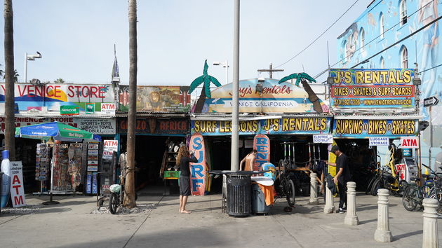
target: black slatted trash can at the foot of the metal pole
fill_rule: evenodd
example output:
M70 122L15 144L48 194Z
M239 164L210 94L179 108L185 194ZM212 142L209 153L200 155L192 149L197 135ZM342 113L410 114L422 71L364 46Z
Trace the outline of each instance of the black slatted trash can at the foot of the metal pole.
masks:
M227 214L250 215L250 177L252 174L227 174Z

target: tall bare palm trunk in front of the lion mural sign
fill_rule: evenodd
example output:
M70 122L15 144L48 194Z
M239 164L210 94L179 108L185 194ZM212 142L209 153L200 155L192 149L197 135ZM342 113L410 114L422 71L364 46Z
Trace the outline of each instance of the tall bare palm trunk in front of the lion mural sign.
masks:
M129 0L129 111L126 182L123 205L136 207L135 203L135 122L137 104L137 1Z

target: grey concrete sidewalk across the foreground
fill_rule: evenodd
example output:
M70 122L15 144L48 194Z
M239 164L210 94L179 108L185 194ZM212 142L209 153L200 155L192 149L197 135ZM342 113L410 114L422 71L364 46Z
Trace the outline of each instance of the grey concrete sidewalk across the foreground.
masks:
M377 198L358 194L359 226L344 225L345 214L323 214L323 204L297 198L293 212L279 199L267 216L230 217L221 213L221 196L189 198L192 214L178 213L177 196L140 196L152 210L134 214L91 214L95 198L55 197L60 205L27 199L33 214L1 214L2 247L422 247L422 212L408 212L390 196L391 243L373 239ZM337 199L335 199L337 201ZM323 200L320 199L323 203ZM337 202L335 202L337 207ZM438 231L442 244L442 230Z

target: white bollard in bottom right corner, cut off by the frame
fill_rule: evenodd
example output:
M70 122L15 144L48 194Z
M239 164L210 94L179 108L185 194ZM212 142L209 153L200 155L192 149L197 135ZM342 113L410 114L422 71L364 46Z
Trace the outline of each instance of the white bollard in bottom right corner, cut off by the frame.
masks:
M425 198L422 205L424 206L424 233L422 239L422 248L437 248L437 208L438 200Z

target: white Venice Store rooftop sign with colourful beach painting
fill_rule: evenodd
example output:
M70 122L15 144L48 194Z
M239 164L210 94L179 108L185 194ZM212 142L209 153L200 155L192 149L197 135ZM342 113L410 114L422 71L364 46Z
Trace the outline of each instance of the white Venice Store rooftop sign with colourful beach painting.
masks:
M96 84L58 84L32 85L15 83L14 100L20 111L28 107L46 106L48 111L60 111L62 105L78 106L85 111L87 103L95 103L95 111L100 111L100 104L114 102L112 85ZM0 102L5 100L5 85L0 84Z

